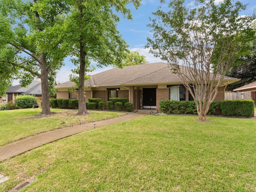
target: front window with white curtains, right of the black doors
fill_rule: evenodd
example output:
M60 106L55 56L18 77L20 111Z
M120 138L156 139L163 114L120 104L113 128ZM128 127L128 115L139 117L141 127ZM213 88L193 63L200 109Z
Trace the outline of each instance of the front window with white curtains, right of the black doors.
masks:
M183 85L170 85L170 100L185 101L186 100L186 88Z

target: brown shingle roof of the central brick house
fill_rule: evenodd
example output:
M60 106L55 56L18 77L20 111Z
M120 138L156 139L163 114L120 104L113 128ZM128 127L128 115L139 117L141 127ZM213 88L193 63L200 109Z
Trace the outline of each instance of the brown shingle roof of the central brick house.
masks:
M226 77L224 80L237 80ZM177 74L173 74L168 64L150 63L141 65L125 66L124 68L113 68L95 75L86 80L85 85L95 86L120 86L129 84L158 84L181 82ZM56 88L75 86L73 82L59 84Z

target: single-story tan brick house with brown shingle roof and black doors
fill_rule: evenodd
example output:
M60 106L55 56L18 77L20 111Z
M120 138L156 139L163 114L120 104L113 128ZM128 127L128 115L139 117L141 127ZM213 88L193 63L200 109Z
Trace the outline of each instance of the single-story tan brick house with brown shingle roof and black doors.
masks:
M225 77L215 100L224 100L225 87L238 80ZM73 82L58 84L55 88L57 98L78 98ZM92 75L85 82L85 96L86 102L88 98L102 98L105 103L112 97L129 98L134 110L159 110L161 100L193 100L178 75L162 62L113 68Z

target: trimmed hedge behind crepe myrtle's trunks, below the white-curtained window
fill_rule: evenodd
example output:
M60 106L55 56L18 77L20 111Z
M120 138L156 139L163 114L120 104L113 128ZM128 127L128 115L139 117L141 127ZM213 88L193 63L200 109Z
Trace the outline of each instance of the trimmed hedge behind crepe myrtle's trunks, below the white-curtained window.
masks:
M199 103L199 102L198 102ZM194 101L160 101L160 111L166 114L197 114ZM208 114L214 114L218 108L218 102L211 103Z

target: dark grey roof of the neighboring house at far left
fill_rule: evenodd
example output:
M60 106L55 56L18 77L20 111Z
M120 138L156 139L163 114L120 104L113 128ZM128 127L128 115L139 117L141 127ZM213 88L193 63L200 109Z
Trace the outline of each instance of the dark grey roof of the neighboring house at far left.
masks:
M24 88L21 85L9 87L6 90L6 93L42 95L41 81L32 81L27 88Z

